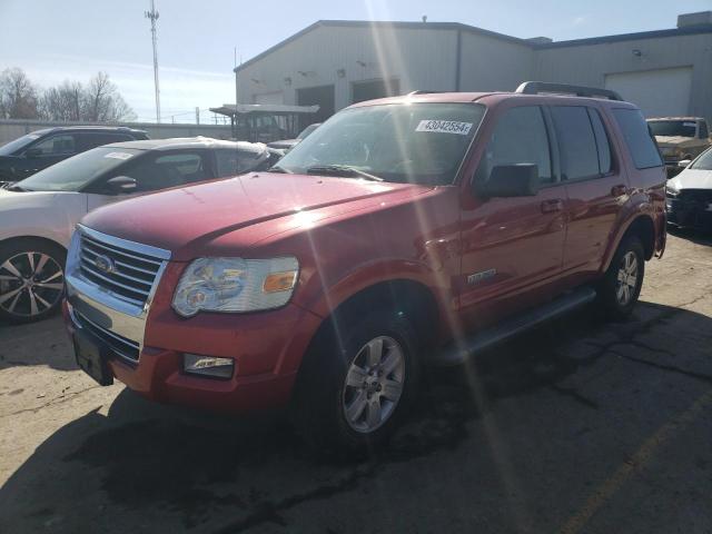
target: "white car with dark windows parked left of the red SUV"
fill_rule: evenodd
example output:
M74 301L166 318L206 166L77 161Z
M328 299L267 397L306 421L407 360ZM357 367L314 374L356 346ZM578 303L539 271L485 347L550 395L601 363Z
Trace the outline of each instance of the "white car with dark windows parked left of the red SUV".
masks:
M0 320L56 312L75 225L88 211L150 191L258 170L276 155L261 144L208 138L106 145L0 189Z

